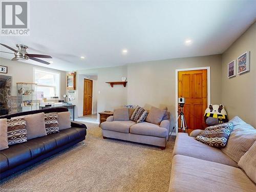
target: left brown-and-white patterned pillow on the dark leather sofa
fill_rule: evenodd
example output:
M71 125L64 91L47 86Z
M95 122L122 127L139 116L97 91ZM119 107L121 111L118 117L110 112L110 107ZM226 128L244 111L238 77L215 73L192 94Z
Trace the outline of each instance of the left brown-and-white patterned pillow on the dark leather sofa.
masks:
M7 119L8 145L27 141L25 118Z

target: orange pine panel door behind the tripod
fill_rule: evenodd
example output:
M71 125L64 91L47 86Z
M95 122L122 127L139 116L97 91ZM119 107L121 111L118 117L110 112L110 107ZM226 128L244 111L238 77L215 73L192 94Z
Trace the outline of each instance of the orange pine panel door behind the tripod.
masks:
M178 97L185 98L184 116L188 133L204 129L207 108L207 70L179 71Z

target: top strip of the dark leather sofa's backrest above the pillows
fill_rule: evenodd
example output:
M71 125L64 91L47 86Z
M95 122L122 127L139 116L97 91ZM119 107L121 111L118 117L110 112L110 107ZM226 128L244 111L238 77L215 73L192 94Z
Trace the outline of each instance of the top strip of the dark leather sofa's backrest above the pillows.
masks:
M0 119L11 119L12 117L18 117L18 116L24 116L24 115L30 115L30 114L36 114L36 113L53 113L53 112L67 112L69 111L67 108L46 108L46 109L42 109L42 110L33 110L33 111L26 111L26 112L20 112L20 113L13 113L13 114L9 114L9 115L2 115L0 116Z

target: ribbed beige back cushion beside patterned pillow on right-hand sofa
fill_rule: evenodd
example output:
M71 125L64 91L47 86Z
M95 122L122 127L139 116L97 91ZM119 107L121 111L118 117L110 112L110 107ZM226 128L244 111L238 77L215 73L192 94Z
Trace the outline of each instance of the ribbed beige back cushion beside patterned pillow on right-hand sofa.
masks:
M231 159L239 162L240 158L256 141L256 129L237 116L229 122L233 124L233 131L229 136L227 145L221 150Z

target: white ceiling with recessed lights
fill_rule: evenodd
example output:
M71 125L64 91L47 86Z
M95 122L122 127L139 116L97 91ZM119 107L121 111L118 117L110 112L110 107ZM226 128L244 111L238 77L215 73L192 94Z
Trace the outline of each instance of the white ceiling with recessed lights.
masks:
M256 19L256 1L70 0L30 1L30 6L31 35L1 36L0 42L49 54L53 59L45 60L54 63L39 65L63 71L220 54ZM187 38L190 46L184 45Z

